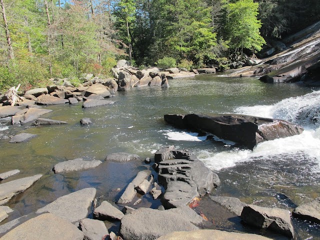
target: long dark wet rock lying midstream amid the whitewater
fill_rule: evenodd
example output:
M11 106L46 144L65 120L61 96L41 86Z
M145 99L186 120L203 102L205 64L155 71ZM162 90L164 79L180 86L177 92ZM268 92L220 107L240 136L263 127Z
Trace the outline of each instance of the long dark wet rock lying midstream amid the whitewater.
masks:
M301 126L285 120L235 114L167 114L164 120L178 128L210 132L250 149L260 142L297 135L303 131Z

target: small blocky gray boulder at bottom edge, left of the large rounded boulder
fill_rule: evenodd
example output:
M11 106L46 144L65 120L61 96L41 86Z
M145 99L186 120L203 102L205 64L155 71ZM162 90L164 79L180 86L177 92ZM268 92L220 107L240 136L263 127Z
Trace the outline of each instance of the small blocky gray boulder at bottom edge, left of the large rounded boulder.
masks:
M86 240L101 240L109 234L104 222L100 220L84 218L80 221L80 228Z

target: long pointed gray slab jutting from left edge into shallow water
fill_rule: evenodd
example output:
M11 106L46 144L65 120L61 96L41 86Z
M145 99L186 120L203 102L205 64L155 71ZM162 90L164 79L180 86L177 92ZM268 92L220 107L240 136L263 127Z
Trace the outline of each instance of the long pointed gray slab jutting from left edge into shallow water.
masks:
M19 178L0 184L0 205L6 203L12 196L24 191L37 181L42 175Z

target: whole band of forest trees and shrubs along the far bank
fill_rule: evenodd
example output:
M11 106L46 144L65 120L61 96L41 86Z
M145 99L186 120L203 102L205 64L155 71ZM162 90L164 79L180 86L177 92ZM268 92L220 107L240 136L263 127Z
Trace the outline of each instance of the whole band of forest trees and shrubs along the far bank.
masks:
M0 0L0 90L136 66L226 67L319 20L317 0Z

